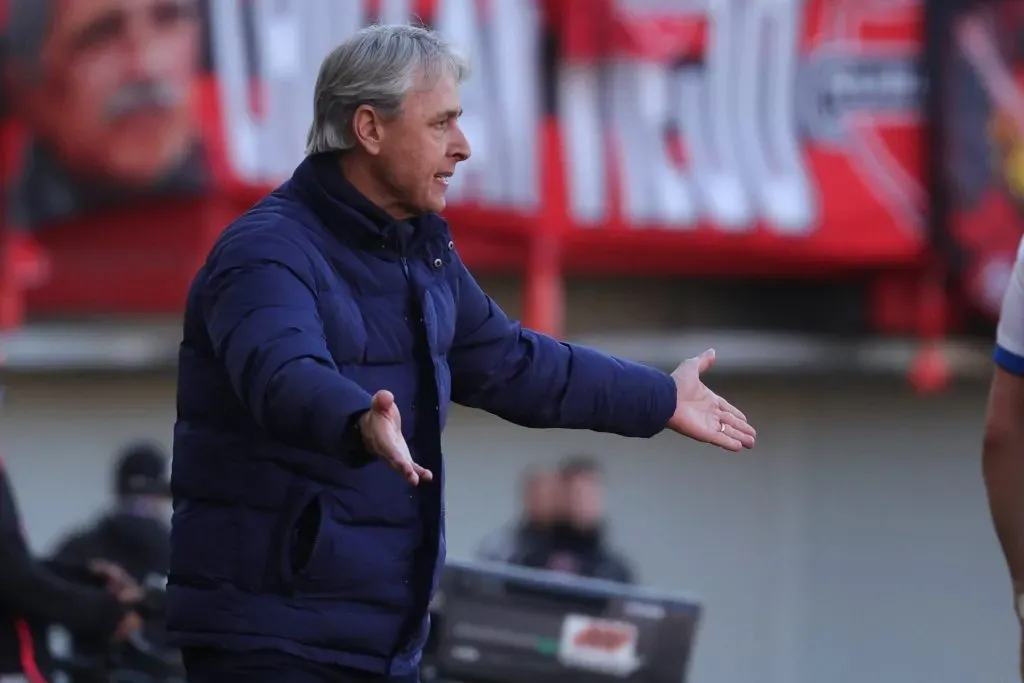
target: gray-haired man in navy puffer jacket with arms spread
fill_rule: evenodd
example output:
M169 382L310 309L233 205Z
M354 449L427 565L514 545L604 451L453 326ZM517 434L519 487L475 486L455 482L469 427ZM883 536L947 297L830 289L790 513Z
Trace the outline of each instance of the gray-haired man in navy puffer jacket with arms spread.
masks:
M418 681L444 564L452 401L527 427L754 445L699 379L522 329L459 258L464 59L359 31L316 80L307 158L190 289L178 364L168 626L191 683Z

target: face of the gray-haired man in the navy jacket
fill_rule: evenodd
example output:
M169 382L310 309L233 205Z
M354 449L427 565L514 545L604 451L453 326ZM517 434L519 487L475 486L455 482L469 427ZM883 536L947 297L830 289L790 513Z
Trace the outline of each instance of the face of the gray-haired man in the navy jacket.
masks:
M459 117L459 87L452 76L414 88L399 116L381 124L380 174L398 214L436 213L445 206L447 178L469 159Z

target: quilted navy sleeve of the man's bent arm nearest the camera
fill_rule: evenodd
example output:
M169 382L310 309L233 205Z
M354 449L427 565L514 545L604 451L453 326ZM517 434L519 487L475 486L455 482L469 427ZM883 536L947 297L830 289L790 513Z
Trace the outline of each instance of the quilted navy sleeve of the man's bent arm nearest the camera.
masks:
M211 256L203 317L236 393L274 438L343 459L371 396L327 347L312 263L283 230L228 240Z

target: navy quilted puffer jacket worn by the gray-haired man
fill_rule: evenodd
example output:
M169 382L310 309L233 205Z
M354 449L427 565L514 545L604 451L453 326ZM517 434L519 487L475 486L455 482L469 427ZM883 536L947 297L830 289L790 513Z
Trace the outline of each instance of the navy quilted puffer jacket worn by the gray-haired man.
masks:
M350 427L379 389L433 482L411 486L362 451ZM336 160L307 159L223 232L188 295L174 641L416 667L444 562L453 400L530 427L650 436L676 398L660 372L509 321L443 219L392 220Z

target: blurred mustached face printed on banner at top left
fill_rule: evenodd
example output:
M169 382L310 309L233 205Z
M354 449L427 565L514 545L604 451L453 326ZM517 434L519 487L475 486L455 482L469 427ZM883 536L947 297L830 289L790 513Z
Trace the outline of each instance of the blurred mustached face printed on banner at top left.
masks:
M187 151L195 0L59 0L24 115L79 173L147 184ZM24 70L23 70L24 71Z

